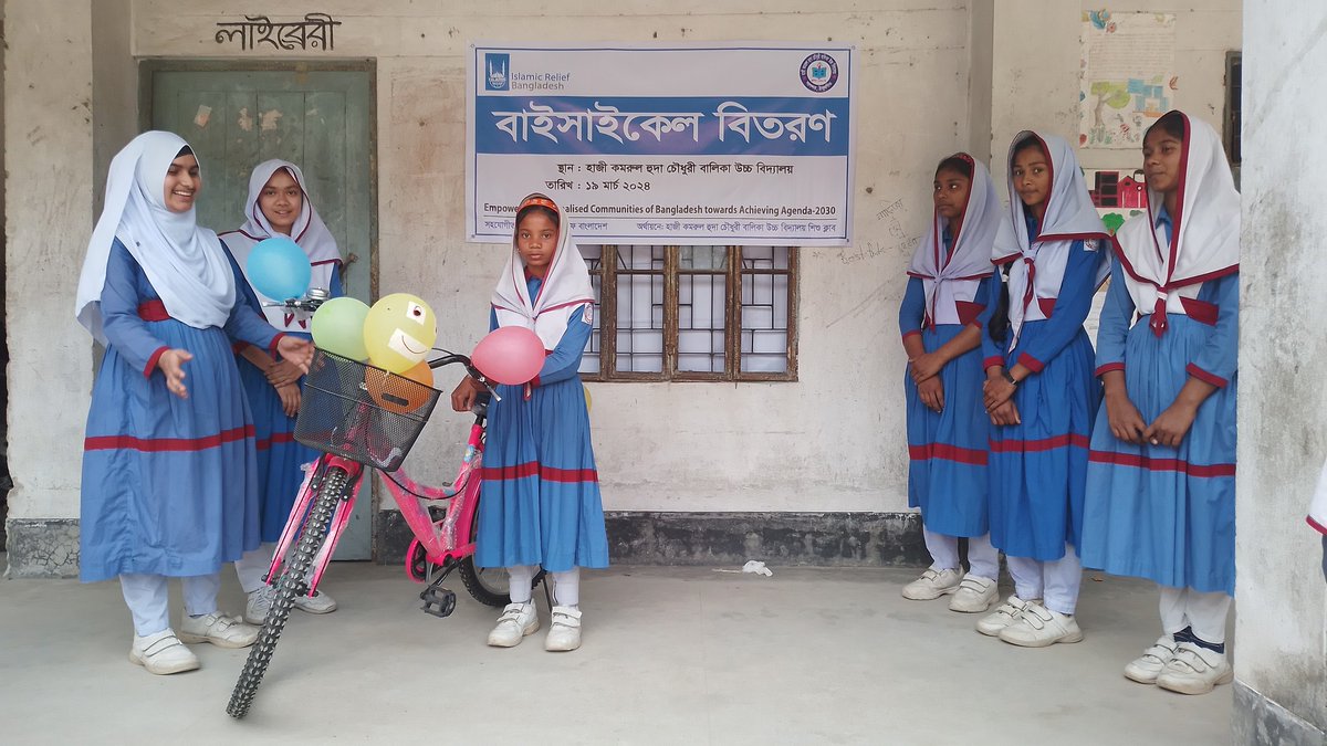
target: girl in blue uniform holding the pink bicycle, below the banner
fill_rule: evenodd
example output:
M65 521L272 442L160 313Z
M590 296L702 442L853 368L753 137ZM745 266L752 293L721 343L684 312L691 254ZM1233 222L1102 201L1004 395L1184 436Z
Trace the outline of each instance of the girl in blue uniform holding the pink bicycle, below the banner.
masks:
M552 199L532 194L516 211L511 258L492 296L490 328L524 327L544 342L543 369L523 386L498 386L488 408L475 563L504 567L511 604L488 644L511 648L539 629L531 587L553 579L547 650L581 642L580 568L608 567L608 535L579 369L593 324L589 271ZM483 386L451 394L467 411Z

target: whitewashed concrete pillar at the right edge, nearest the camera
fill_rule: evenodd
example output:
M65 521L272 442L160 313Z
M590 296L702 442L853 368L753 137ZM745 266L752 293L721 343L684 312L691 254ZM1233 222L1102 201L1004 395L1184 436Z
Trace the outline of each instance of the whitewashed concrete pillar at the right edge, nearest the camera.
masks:
M1243 64L1237 742L1327 742L1327 584L1304 523L1327 457L1327 7L1249 0Z

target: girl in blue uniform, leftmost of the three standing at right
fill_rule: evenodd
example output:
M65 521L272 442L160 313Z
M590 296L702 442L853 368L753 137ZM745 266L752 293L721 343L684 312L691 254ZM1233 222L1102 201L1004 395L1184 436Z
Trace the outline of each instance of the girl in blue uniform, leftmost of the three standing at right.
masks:
M940 162L933 188L934 218L913 254L898 309L909 362L908 504L921 508L932 565L902 595L924 601L953 593L950 611L977 613L995 600L999 579L987 524L990 422L977 319L989 304L991 244L1005 216L990 173L966 153Z

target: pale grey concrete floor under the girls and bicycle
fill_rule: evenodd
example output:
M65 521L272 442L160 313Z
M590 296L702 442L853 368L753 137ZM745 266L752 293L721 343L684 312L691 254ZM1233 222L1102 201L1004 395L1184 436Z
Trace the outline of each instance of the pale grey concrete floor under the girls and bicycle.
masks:
M1087 640L1030 650L975 633L943 600L900 597L910 569L772 569L587 573L585 644L553 654L543 632L484 646L496 613L459 579L456 612L439 620L399 567L336 564L324 588L340 611L296 613L240 722L224 709L245 650L195 645L202 670L150 676L126 660L118 584L4 580L0 741L1230 742L1229 686L1185 697L1121 676L1156 638L1147 583L1088 573ZM223 608L240 600L227 572Z

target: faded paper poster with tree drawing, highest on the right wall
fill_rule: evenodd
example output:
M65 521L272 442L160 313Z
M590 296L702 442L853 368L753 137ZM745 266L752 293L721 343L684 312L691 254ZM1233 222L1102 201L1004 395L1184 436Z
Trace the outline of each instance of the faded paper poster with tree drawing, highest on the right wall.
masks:
M1079 146L1141 147L1143 134L1174 108L1173 13L1084 11L1079 73Z

